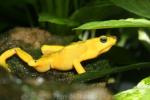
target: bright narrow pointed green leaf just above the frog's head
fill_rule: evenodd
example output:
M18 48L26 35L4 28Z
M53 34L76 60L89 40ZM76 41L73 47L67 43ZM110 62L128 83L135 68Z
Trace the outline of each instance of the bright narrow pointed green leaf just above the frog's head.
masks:
M74 29L91 30L91 29L123 28L123 27L150 27L150 20L128 18L120 20L93 21L85 23Z

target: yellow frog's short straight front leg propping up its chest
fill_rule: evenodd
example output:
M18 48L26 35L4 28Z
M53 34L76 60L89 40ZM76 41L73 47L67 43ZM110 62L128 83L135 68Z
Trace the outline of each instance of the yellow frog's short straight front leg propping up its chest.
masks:
M78 74L82 74L82 73L86 72L79 60L74 60L73 61L73 66L74 66L74 68L75 68L75 70L77 71Z

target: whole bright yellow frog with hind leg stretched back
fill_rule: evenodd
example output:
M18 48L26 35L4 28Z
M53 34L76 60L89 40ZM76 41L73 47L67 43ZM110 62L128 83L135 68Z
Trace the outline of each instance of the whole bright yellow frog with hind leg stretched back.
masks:
M86 41L74 42L67 46L43 45L41 47L43 56L38 60L34 60L31 55L20 48L12 48L0 55L0 65L10 71L6 60L16 54L38 72L46 72L50 69L67 71L74 68L78 74L81 74L85 72L81 65L82 61L107 52L115 44L115 36L103 35Z

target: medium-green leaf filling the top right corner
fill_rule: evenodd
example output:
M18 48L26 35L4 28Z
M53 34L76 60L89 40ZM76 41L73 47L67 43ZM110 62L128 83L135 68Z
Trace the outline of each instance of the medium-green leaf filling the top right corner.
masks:
M150 18L150 0L111 0L117 6L139 16Z

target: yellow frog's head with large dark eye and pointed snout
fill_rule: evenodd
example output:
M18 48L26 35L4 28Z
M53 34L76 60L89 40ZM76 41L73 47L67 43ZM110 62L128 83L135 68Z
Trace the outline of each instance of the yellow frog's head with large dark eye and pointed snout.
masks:
M102 35L97 38L97 49L100 54L107 52L113 45L116 44L117 38L115 36Z

